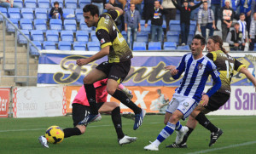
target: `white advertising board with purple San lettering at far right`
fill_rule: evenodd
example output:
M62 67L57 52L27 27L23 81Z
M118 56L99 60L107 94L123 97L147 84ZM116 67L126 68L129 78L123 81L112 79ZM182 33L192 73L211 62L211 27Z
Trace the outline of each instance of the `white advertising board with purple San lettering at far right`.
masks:
M231 86L230 100L218 111L212 111L208 115L256 115L255 88L253 86Z

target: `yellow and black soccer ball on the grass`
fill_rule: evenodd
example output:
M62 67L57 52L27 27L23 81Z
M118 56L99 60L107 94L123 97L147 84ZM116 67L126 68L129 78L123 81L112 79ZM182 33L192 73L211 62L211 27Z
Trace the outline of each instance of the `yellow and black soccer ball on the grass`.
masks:
M61 143L64 139L64 132L59 126L51 126L45 132L45 138L49 143Z

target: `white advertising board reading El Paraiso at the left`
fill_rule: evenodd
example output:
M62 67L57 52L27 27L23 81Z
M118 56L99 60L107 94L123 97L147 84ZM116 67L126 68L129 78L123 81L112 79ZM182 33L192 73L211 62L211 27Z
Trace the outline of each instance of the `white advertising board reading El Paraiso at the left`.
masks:
M66 87L13 88L14 117L63 116L66 106Z

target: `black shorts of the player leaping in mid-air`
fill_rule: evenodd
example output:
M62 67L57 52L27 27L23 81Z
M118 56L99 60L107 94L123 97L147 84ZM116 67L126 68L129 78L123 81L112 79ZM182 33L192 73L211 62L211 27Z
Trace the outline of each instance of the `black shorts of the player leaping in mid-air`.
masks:
M128 75L131 68L131 60L126 60L119 63L102 62L96 69L103 71L107 74L108 79L113 79L118 83L122 83Z

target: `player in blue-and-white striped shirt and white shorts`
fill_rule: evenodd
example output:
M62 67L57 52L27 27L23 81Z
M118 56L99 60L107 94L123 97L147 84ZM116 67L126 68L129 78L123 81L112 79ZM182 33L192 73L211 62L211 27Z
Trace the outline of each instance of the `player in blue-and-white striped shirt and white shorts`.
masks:
M183 127L179 120L189 117L189 114L195 109L200 100L202 106L206 106L209 97L220 88L221 81L216 66L212 60L202 54L205 44L204 37L195 35L191 44L191 53L183 56L177 68L173 68L173 66L166 67L167 70L171 70L174 79L179 78L184 72L183 81L176 88L175 94L173 94L172 100L166 109L166 127L162 129L154 142L144 147L145 150L158 151L160 143L166 140L174 130L177 130L176 143L179 144L183 135L188 131L188 128ZM209 75L212 76L215 85L207 94L201 96Z

